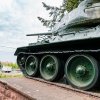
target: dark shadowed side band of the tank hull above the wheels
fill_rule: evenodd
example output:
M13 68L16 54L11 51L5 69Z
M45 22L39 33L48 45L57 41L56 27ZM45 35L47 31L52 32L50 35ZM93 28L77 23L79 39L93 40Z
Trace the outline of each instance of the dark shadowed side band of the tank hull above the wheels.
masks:
M100 49L97 43L100 43L100 37L89 39L78 39L72 41L62 41L46 44L37 44L33 46L25 46L17 48L14 55L19 53L46 53L46 52L63 52L63 51L75 51L75 50L97 50Z

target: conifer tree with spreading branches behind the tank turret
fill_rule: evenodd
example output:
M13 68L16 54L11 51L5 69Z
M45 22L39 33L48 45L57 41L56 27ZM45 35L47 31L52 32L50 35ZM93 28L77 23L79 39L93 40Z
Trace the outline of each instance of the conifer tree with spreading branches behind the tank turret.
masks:
M42 17L38 17L38 19L43 23L43 26L46 26L52 30L54 25L61 21L63 16L67 13L75 9L79 1L78 0L63 0L62 5L58 7L53 7L46 5L44 2L42 2L43 7L46 8L47 11L49 11L49 15L51 17L51 20L46 20Z

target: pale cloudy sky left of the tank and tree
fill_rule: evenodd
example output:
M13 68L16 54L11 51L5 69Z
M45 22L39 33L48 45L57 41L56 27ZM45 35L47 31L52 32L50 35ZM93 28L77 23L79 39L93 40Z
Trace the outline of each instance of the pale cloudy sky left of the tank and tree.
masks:
M0 0L0 61L16 62L16 48L37 41L26 34L48 31L37 19L49 19L42 2L58 7L62 4L62 0Z

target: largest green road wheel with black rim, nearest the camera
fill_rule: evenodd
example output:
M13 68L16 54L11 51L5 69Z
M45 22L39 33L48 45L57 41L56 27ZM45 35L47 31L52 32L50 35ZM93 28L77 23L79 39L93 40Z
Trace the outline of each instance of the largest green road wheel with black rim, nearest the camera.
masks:
M73 87L89 90L96 86L99 78L98 62L90 55L72 55L66 62L65 74Z

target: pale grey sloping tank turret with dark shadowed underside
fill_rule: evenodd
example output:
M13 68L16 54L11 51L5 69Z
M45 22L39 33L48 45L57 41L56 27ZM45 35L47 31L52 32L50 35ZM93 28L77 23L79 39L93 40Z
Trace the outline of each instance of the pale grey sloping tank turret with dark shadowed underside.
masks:
M89 28L100 23L100 1L84 0L79 6L64 16L61 22L57 23L53 33L60 33L63 30Z

